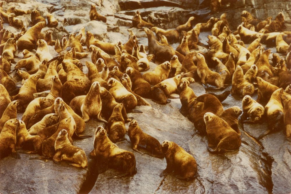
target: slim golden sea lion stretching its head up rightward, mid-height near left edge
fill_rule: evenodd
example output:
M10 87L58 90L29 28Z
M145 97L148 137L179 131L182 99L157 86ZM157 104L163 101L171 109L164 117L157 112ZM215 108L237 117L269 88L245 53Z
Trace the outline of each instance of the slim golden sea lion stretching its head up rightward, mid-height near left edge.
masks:
M28 104L34 99L33 93L36 93L36 82L39 79L40 74L30 76L24 81L18 94L13 97L13 100L19 100L18 111L25 111Z

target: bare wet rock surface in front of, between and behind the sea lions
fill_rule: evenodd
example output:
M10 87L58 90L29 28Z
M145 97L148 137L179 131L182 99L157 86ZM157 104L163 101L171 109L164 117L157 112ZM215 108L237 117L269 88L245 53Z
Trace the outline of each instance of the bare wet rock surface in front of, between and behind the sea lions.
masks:
M204 1L203 1L204 2ZM96 38L123 44L128 40L128 27L132 25L132 17L139 9L143 19L162 27L174 28L187 21L189 16L195 15L196 23L204 22L209 17L207 2L200 1L168 1L168 0L8 0L3 8L10 5L17 8L37 8L45 16L52 13L59 21L57 29L45 27L42 32L53 31L53 38L61 38L72 32L79 32L82 27L91 31ZM107 23L90 21L90 4L95 3L97 11L106 15ZM285 20L290 22L289 9L291 1L237 1L230 7L223 5L218 13L227 13L228 21L236 28L241 23L242 10L248 10L258 19L272 16L283 11ZM201 4L198 7L198 4ZM280 7L280 8L279 8ZM282 9L283 8L283 9ZM195 11L193 11L195 10ZM30 24L30 15L22 18ZM4 28L14 33L19 30L8 24ZM148 39L143 29L132 28L139 43L148 45ZM200 42L207 44L207 35L199 35ZM172 45L174 48L177 43ZM52 46L50 52L56 56ZM274 51L274 50L272 50ZM87 73L85 61L91 61L91 53L81 59L84 73ZM15 61L23 57L17 53ZM12 69L15 67L13 64ZM153 70L156 64L150 64ZM13 76L13 75L11 75ZM13 79L21 80L17 76ZM196 95L205 94L201 83L192 83L190 87ZM230 90L230 87L226 88ZM211 91L213 92L213 91ZM216 92L221 93L221 92ZM173 96L178 97L177 94ZM256 97L254 97L256 99ZM146 99L151 106L137 106L143 113L129 113L139 122L139 126L146 133L154 136L162 143L164 140L174 141L194 156L198 164L198 176L194 181L180 181L168 175L159 177L166 168L166 160L141 155L134 152L129 137L116 143L120 148L134 152L136 157L137 174L132 177L108 180L116 175L116 170L108 170L103 174L96 173L96 161L88 155L93 149L93 137L74 139L74 145L84 149L88 158L88 168L78 169L70 167L65 162L56 165L52 160L29 160L36 154L20 154L22 159L6 157L0 160L0 193L290 193L291 192L291 145L285 140L282 130L257 140L258 136L267 130L267 124L242 124L242 145L239 150L221 154L211 154L207 151L207 138L195 134L193 123L180 114L180 99L171 99L171 103L160 105ZM1 106L1 105L0 105ZM223 102L223 108L232 106L242 108L242 99L228 96ZM17 115L21 119L22 114ZM103 125L97 120L86 123L86 135L93 135L96 127ZM128 128L128 124L126 124Z

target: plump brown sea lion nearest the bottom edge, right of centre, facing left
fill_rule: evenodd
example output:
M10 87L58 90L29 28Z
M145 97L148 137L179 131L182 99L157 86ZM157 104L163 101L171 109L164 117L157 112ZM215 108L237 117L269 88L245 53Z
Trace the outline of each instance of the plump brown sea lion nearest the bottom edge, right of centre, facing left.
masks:
M165 155L167 167L161 172L160 177L171 173L174 173L176 178L185 181L196 177L196 160L182 147L172 141L165 140L162 143L162 152Z

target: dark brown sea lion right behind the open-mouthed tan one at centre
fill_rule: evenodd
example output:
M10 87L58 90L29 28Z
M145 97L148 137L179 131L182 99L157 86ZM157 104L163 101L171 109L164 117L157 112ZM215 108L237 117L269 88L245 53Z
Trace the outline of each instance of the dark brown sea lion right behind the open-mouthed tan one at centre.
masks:
M148 97L151 87L150 83L144 79L143 75L132 67L127 67L125 72L129 75L130 80L132 81L132 91L141 97Z

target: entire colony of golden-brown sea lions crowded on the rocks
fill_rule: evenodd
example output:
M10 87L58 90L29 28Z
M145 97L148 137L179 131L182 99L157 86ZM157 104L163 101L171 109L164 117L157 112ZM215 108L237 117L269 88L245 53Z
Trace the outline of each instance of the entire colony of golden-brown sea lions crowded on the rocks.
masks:
M144 147L149 155L166 158L167 167L161 177L173 173L182 180L194 179L197 164L193 156L174 142L164 140L161 144L143 132L138 121L127 117L129 112L141 113L136 106L150 106L144 98L166 104L171 102L168 98L177 98L173 93L180 95L180 113L194 123L197 134L207 136L209 152L239 149L242 138L239 119L250 123L267 119L268 130L260 138L282 130L291 139L288 40L291 32L283 31L282 13L275 20L269 17L260 21L243 11L242 24L232 32L226 14L196 25L191 23L195 18L190 17L176 29L164 30L144 21L137 11L132 27L144 29L147 53L131 30L127 42L116 44L96 39L85 28L52 40L52 32L42 33L42 28L57 27L53 15L47 15L46 21L36 9L3 10L2 5L3 1L0 3L0 159L6 156L19 159L16 150L23 149L24 153L40 154L31 159L53 159L57 164L67 160L70 165L86 168L86 154L72 145L73 139L89 137L82 135L85 122L97 119L106 124L105 129L96 126L90 153L90 158L97 159L98 173L109 167L123 171L110 178L137 172L133 152L115 144L128 133L134 151L148 154L141 151ZM24 26L16 17L29 14L31 26ZM107 21L97 13L95 5L91 6L89 17ZM21 29L21 33L3 29L4 22ZM200 31L211 31L208 45L199 42ZM176 50L170 45L173 42L180 42ZM281 55L271 55L270 49L262 44L276 47ZM52 56L48 45L54 45L59 55ZM85 47L91 52L91 61L86 61L87 74L79 60L88 56ZM17 51L22 51L23 59L15 63ZM153 71L149 71L150 61L157 64ZM10 76L15 72L23 79L20 88ZM207 89L223 90L231 85L231 91L196 96L189 87L195 81ZM221 102L230 92L242 98L243 110L238 106L223 109ZM251 97L255 92L257 100ZM17 112L24 112L21 120L17 119ZM130 122L128 129L127 122Z

